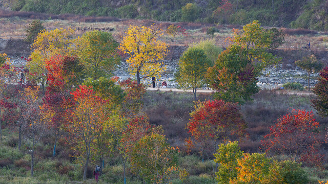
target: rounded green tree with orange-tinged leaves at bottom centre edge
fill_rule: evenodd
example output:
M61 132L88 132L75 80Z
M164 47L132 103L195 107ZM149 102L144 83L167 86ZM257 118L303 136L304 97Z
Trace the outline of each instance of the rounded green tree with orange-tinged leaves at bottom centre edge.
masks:
M132 171L149 182L167 183L169 174L178 170L176 153L165 135L151 133L133 147L130 158Z

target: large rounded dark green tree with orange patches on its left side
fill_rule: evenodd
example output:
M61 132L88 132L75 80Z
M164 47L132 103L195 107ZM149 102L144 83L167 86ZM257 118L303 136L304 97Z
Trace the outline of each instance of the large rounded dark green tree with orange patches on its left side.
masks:
M256 85L259 73L248 59L247 52L245 48L232 45L208 69L206 78L217 90L215 98L243 103L259 91Z

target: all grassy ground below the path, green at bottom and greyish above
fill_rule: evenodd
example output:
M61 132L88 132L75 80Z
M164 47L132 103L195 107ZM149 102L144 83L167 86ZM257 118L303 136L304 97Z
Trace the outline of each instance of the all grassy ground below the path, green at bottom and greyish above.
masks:
M254 101L241 107L241 112L249 124L247 129L250 139L241 143L242 150L247 152L259 151L261 137L268 133L269 127L274 121L288 112L289 108L301 108L313 110L310 100L313 96L277 95L275 91L263 90L256 94ZM199 94L199 100L212 99L211 94ZM174 146L180 146L182 157L179 158L179 166L186 169L189 176L183 183L215 183L212 171L213 161L201 163L197 151L194 156L186 156L185 148L181 146L188 136L185 125L189 119L189 112L193 109L193 97L191 93L174 93L162 91L149 91L144 99L145 111L150 122L162 125L169 142ZM327 119L316 116L322 127L326 126ZM17 134L9 129L4 131L4 142L0 146L0 183L70 183L80 181L83 169L73 162L69 156L73 154L69 146L60 139L57 147L57 157L51 158L52 137L45 138L38 146L36 152L35 177L30 178L30 155L23 145L23 151L16 148ZM24 143L24 142L23 142ZM325 148L324 145L323 148ZM106 160L104 175L100 176L100 183L122 183L122 166L115 155ZM93 166L97 163L91 163ZM95 183L92 179L92 167L88 171L87 183ZM128 183L142 183L128 170ZM328 178L328 172L319 171L314 180ZM173 183L180 183L174 180Z

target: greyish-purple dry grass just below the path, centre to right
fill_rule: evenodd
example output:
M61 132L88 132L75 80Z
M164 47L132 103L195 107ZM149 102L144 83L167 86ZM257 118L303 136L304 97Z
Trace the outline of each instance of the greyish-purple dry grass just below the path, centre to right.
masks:
M315 118L321 124L322 135L327 126L328 118L321 118L311 106L311 96L297 96L280 93L274 90L261 90L254 96L254 100L241 106L241 113L248 123L248 138L240 141L241 149L247 152L259 152L260 140L269 133L270 126L291 109L313 110ZM200 94L201 101L211 100L210 94ZM175 93L163 91L149 91L145 97L145 111L150 122L162 125L165 134L174 146L184 149L183 140L190 136L185 129L193 110L191 93ZM324 136L322 136L322 141Z

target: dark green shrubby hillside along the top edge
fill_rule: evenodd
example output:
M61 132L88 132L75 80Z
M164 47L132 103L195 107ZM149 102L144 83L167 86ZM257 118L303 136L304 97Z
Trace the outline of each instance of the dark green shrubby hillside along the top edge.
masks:
M10 8L14 11L73 13L161 21L218 22L236 25L259 20L263 26L328 31L327 0L230 0L228 4L225 3L226 1L0 0L0 4L3 8ZM223 10L226 8L228 11L222 11L218 7L222 7Z

